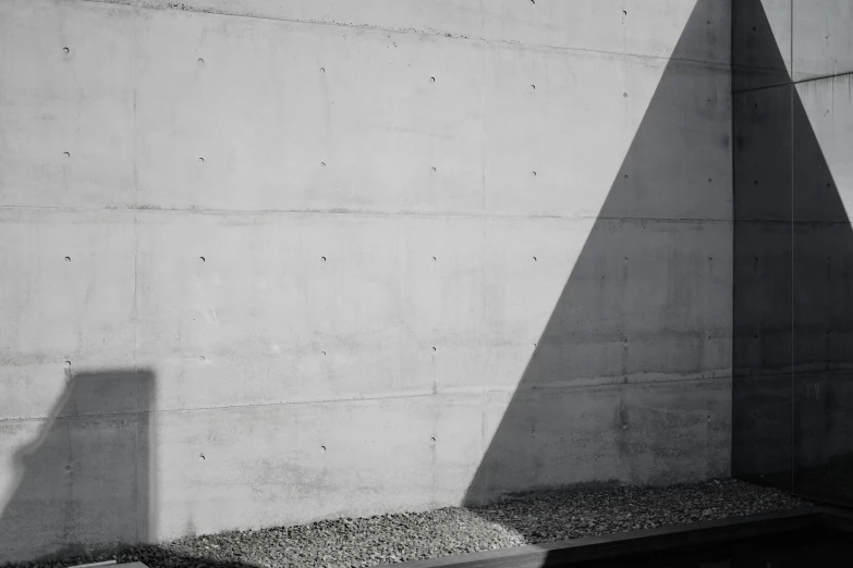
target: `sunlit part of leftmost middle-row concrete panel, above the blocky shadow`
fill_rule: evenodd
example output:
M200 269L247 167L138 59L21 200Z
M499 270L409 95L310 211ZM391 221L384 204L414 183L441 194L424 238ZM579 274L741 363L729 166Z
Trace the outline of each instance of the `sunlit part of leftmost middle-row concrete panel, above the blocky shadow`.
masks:
M51 416L69 372L133 368L133 219L0 209L0 418Z

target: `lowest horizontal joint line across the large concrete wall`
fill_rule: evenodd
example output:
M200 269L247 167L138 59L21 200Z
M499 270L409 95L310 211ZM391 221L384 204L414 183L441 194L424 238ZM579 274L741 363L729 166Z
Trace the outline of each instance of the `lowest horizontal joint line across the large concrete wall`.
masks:
M653 381L635 381L635 382L611 382L611 383L601 383L601 384L578 384L578 385L564 385L564 386L553 386L553 387L547 387L548 390L565 390L565 391L572 391L577 388L592 388L592 387L601 387L601 388L608 388L608 387L618 387L618 386L624 386L625 384L643 384L643 385L657 385L657 384L669 384L669 383L686 383L686 382L700 382L700 381L708 381L708 380L726 380L730 379L729 376L699 376L699 378L684 378L684 379L663 379L663 380L653 380ZM353 397L353 398L317 398L313 400L282 400L277 403L255 403L255 404L246 404L246 405L222 405L222 406L197 406L192 408L169 408L164 410L129 410L126 412L102 412L102 413L89 413L89 415L62 415L62 416L38 416L38 417L17 417L17 418L0 418L0 423L3 422L27 422L27 421L40 421L40 420L87 420L93 418L109 418L109 417L134 417L138 415L166 415L166 413L176 413L176 412L195 412L200 410L228 410L228 409L235 409L235 408L266 408L266 407L278 407L278 406L307 406L307 405L322 405L322 404L332 404L332 403L362 403L362 402L373 402L373 400L392 400L392 399L406 399L406 398L428 398L434 396L449 396L449 395L462 395L462 394L468 394L468 395L485 395L485 394L493 394L493 393L513 393L516 391L527 391L527 390L538 390L536 387L533 388L526 388L526 387L507 387L507 388L489 388L489 390L472 390L472 388L455 388L455 390L442 390L438 392L430 391L422 391L422 392L413 392L413 393L406 393L406 394L399 394L399 395L376 395L376 396L360 396L360 397Z

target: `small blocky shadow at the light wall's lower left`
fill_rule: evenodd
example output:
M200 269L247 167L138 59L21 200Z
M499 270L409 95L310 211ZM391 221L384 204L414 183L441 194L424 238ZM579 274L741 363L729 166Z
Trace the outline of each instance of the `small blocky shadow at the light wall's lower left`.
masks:
M58 561L147 541L154 383L148 371L68 371L50 418L37 429L36 419L5 425L35 439L15 456L20 481L0 511L0 559Z

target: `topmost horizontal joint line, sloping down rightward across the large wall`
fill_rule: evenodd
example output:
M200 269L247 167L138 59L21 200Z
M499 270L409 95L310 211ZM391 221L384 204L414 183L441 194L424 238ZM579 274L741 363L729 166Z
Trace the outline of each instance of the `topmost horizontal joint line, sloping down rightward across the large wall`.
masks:
M660 60L660 61L684 61L686 63L698 63L703 65L717 65L721 69L730 69L730 64L724 61L708 61L708 60L702 60L702 59L692 59L692 58L673 58L673 57L663 57L663 55L649 55L645 53L632 53L626 51L608 51L604 49L584 49L584 48L577 48L577 47L564 47L564 46L550 46L547 44L524 44L522 41L513 41L510 39L486 39L484 37L473 37L473 36L456 36L451 35L448 36L448 32L441 32L438 29L430 29L427 32L418 32L417 29L405 29L405 28L394 28L394 27L381 27L381 26L371 26L368 24L354 24L354 23L339 23L339 22L326 22L322 20L296 20L296 18L290 18L290 17L276 17L272 15L253 15L253 14L241 14L237 12L227 12L224 10L214 10L214 9L203 9L203 8L195 8L195 7L186 7L186 8L178 8L173 5L136 5L131 4L130 2L121 1L121 0L82 0L84 2L92 2L92 3L98 3L98 4L111 4L111 5L126 5L132 9L136 10L164 10L164 11L173 11L173 12L196 12L200 14L211 14L211 15L220 15L220 16L230 16L230 17L247 17L253 20L268 20L270 22L289 22L293 24L304 24L304 25L320 25L320 26L332 26L332 27L350 27L353 29L370 29L375 32L390 32L394 34L407 34L407 35L416 35L416 36L427 36L427 37L441 37L444 39L463 39L467 41L480 41L483 44L493 44L493 45L510 45L510 46L522 46L522 47L532 47L532 48L539 48L539 49L550 49L555 51L566 51L566 52L577 52L577 53L601 53L606 55L622 55L627 58L642 58L642 59L649 59L649 60Z

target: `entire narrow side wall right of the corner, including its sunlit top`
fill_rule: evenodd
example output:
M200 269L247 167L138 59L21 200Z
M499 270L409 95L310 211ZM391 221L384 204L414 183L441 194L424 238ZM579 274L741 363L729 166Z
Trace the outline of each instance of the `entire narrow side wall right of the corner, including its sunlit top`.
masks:
M732 15L732 473L845 503L852 5L754 0Z

